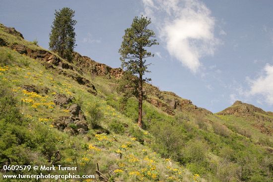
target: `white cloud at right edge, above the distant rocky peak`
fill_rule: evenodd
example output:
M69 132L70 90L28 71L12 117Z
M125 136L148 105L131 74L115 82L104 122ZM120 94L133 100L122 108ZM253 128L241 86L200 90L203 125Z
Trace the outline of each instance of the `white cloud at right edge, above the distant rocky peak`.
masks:
M264 102L273 105L273 65L267 64L257 79L249 79L249 95L262 95Z

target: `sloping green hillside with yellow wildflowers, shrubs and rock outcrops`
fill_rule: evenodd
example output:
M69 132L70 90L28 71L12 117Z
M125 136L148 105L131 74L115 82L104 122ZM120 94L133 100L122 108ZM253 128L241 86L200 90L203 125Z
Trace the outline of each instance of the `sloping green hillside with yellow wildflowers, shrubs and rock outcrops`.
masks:
M272 128L270 114L213 115L145 84L142 130L136 99L115 89L120 68L68 62L3 25L0 46L1 165L98 163L115 182L273 181L272 130L256 126Z

